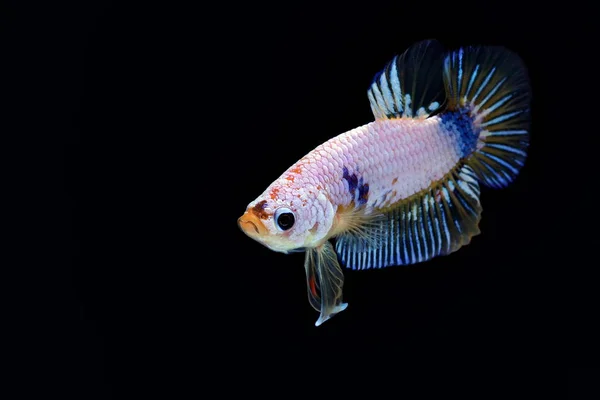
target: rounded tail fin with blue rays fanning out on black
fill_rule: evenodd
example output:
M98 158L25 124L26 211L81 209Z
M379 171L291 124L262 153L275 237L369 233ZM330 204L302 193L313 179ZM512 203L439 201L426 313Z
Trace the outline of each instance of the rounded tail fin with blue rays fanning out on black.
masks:
M501 47L469 47L444 59L447 110L467 114L476 137L466 163L486 186L506 187L527 156L531 89L520 58Z

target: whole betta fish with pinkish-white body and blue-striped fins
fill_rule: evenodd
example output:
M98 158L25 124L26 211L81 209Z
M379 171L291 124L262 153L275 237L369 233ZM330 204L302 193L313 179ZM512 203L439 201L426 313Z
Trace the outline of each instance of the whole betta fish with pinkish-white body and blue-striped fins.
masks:
M469 244L480 185L506 187L526 158L531 89L506 48L416 43L367 95L374 121L310 151L238 218L269 249L306 252L316 326L347 307L340 265L409 265Z

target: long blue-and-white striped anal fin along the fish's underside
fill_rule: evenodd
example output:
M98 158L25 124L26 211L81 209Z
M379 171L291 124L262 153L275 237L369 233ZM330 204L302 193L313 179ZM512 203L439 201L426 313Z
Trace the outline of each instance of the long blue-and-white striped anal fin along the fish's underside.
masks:
M450 254L479 234L481 205L475 173L464 165L445 179L383 210L371 229L379 246L355 235L337 237L336 252L352 269L408 265Z

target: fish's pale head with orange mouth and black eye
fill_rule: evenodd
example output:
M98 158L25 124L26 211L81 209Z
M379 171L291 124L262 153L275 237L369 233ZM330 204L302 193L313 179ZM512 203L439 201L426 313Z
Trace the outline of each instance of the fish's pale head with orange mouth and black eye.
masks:
M313 185L275 181L248 204L238 226L271 250L289 253L316 247L328 239L334 207Z

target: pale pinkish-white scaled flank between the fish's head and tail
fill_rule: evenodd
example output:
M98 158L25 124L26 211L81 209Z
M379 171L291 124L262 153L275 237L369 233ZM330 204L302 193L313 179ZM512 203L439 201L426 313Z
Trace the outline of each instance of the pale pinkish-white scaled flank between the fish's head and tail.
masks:
M355 140L358 137L363 140ZM370 157L367 148L372 149ZM324 149L328 150L327 159L321 155ZM387 198L389 204L427 188L459 160L456 138L448 133L440 118L420 123L413 119L377 120L323 143L292 165L265 194L273 187L299 193L317 182L335 206L348 206L354 198L343 170L326 167L333 163L348 168L369 184L369 206L391 190L394 195ZM394 180L396 183L392 184Z

